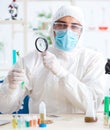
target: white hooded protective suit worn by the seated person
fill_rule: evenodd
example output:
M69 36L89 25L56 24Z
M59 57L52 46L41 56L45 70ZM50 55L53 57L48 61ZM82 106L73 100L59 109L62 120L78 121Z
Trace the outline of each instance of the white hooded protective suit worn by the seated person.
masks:
M84 25L79 8L61 7L52 22L64 16L74 17ZM51 35L54 42L53 33ZM106 63L102 54L79 45L73 51L64 52L53 43L45 57L47 62L48 58L54 60L50 62L50 68L43 63L42 55L37 50L18 61L14 69L18 68L17 71L22 73L23 78L18 74L18 82L13 83L15 88L11 88L11 79L6 77L0 88L1 112L12 113L19 109L26 95L30 96L30 113L38 113L41 101L46 103L47 113L86 112L91 94L97 101L97 107L100 106L104 96ZM9 75L13 77L16 73L12 72L14 71L10 71ZM24 89L20 87L20 81L25 82Z

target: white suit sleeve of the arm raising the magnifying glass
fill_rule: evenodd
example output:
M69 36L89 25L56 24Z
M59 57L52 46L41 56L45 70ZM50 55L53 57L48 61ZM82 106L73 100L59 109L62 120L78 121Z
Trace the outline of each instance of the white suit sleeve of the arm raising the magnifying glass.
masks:
M106 59L102 55L96 55L85 65L86 71L80 80L72 73L60 78L62 91L73 106L86 111L90 95L96 101L97 108L100 106L106 83L105 63Z

